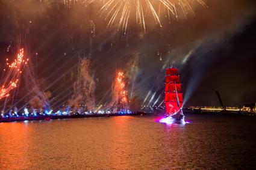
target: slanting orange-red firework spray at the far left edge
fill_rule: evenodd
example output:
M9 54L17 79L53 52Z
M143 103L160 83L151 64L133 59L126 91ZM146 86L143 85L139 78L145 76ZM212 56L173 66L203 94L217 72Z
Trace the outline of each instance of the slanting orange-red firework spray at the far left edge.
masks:
M9 63L7 58L0 82L0 99L10 97L11 91L17 88L23 68L27 65L28 59L24 58L24 49L20 49L16 59Z

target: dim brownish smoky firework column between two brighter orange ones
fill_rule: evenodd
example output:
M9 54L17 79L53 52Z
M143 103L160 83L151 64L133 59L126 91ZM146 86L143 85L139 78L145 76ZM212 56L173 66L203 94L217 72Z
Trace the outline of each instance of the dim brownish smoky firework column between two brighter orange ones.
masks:
M80 58L76 82L73 83L73 96L68 105L78 111L80 105L86 105L88 111L95 110L95 80L90 75L89 58Z

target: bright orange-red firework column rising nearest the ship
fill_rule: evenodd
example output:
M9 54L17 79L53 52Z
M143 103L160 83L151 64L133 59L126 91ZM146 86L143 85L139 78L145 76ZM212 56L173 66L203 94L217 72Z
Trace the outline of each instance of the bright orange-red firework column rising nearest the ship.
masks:
M110 107L113 112L120 110L128 110L127 91L125 90L124 73L116 71L114 82L112 85L112 99Z

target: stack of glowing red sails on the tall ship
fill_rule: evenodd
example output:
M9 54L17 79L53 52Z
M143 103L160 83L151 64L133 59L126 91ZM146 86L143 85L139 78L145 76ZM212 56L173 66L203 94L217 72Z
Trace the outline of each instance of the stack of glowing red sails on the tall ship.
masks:
M167 68L165 82L166 114L173 115L183 106L183 94L181 93L180 76L178 68Z

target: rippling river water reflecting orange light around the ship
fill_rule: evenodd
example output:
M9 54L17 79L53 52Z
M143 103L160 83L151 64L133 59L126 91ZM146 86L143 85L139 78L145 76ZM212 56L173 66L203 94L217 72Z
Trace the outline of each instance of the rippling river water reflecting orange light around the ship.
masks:
M187 115L0 123L0 169L255 169L256 118Z

